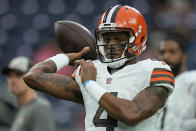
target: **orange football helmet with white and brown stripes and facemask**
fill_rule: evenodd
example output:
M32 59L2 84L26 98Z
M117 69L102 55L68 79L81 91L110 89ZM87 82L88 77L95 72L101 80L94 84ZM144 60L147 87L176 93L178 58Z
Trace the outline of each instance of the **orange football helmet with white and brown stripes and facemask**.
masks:
M102 34L106 32L127 32L129 34L128 43L124 43L126 44L125 51L118 59L108 59L105 56L104 46L106 45ZM95 35L101 62L108 63L111 68L118 68L145 50L147 25L143 15L135 8L116 5L107 9L100 17Z

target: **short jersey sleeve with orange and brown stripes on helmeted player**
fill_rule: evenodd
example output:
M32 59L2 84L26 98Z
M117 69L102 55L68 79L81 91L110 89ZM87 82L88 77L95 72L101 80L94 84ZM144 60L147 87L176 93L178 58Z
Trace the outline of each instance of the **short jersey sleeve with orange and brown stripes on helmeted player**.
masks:
M159 62L153 68L150 77L150 86L163 86L169 92L173 91L175 86L174 75L166 63Z

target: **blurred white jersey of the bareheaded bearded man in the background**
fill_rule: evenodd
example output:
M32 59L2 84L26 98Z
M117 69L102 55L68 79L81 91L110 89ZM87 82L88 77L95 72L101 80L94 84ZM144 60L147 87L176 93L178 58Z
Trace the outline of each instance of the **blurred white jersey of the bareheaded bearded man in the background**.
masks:
M180 74L175 78L175 83L176 87L168 99L164 119L161 116L156 127L158 131L188 131L183 129L185 121L195 117L196 71L187 71ZM161 124L163 129L161 129Z

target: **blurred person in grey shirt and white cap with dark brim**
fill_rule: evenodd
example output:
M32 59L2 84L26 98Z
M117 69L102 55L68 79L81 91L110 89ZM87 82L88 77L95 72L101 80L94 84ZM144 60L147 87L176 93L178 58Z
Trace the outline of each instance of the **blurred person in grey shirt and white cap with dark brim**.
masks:
M53 112L50 104L37 96L23 81L23 74L31 67L27 57L15 57L2 70L7 75L8 88L16 96L18 114L11 131L55 131Z

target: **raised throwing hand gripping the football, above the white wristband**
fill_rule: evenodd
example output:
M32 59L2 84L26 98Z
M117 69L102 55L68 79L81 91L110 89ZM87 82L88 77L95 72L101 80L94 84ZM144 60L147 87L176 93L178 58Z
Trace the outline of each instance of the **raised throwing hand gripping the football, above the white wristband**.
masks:
M79 60L83 55L90 51L90 47L84 47L80 52L77 53L67 53L66 55L70 59L70 65L73 65L76 60Z

